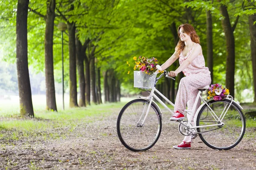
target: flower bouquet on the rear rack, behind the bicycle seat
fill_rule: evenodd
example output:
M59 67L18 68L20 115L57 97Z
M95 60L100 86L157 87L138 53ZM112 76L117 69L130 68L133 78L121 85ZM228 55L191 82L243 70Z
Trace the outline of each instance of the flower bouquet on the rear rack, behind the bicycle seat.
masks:
M209 87L208 94L207 99L212 97L214 100L223 100L229 95L229 90L222 85L214 84Z

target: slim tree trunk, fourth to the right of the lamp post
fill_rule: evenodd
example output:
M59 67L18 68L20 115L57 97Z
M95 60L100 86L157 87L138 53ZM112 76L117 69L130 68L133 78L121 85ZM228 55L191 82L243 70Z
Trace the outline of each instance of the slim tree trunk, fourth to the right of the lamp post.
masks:
M90 81L91 81L91 93L93 97L93 102L97 104L96 99L96 74L95 74L95 57L94 57L94 51L96 46L93 46L91 55L90 55Z

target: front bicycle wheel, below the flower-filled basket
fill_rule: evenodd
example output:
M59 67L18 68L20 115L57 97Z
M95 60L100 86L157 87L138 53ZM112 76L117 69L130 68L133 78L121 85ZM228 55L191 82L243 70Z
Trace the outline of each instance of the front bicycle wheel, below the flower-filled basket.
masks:
M129 150L148 150L154 146L160 136L162 120L160 112L153 103L142 125L148 104L149 101L146 99L134 99L128 102L118 115L117 134L122 144Z

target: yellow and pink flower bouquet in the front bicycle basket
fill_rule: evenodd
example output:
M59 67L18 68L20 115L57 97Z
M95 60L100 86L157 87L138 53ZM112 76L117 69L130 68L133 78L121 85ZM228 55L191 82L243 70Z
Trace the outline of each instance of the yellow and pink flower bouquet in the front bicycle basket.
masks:
M153 74L155 71L157 71L156 65L157 65L157 58L148 58L148 57L134 57L135 65L134 70L142 71L145 74Z

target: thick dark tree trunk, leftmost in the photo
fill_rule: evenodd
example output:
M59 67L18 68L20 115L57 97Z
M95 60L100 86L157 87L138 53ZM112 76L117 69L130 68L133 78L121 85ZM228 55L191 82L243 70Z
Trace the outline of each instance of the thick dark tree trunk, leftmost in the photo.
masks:
M18 0L16 17L16 60L20 116L34 117L28 67L27 17L29 0Z

